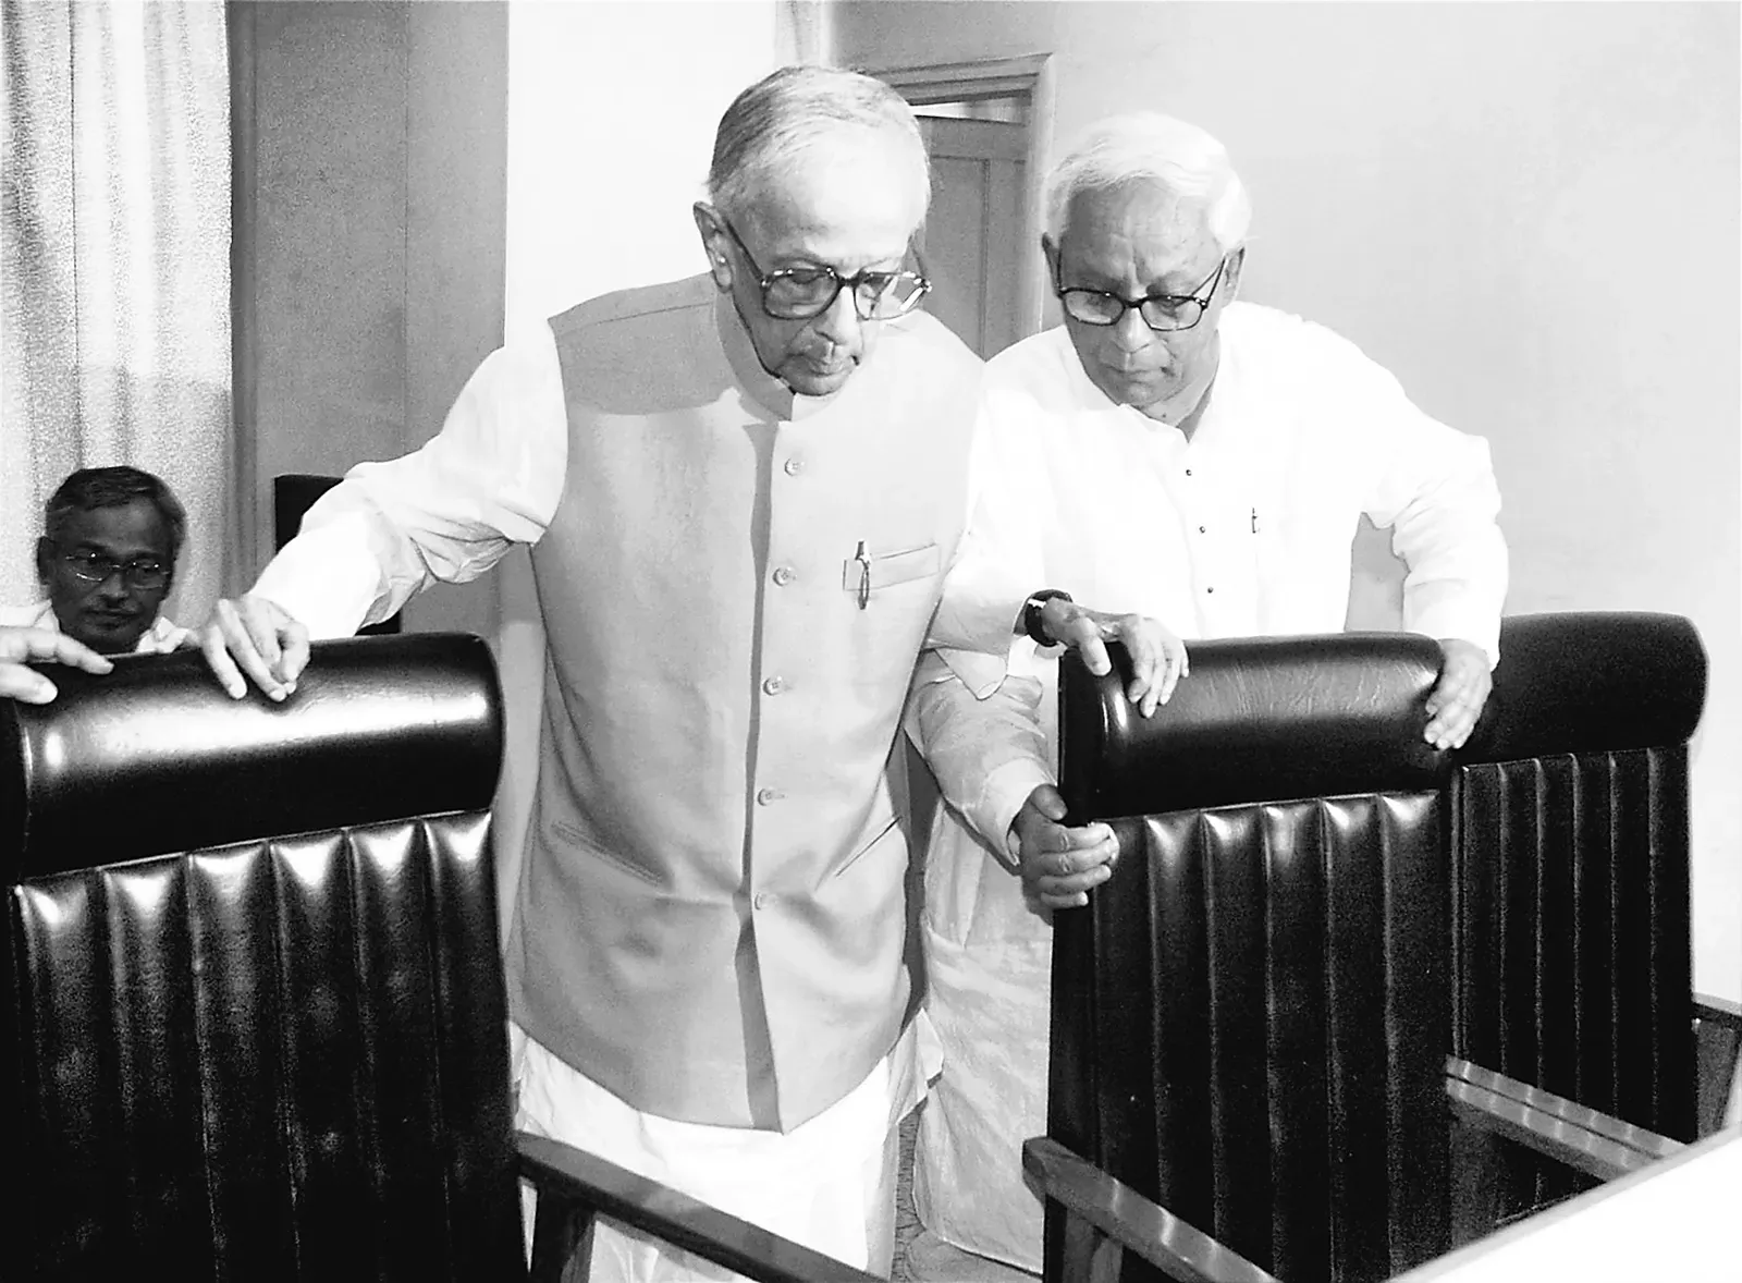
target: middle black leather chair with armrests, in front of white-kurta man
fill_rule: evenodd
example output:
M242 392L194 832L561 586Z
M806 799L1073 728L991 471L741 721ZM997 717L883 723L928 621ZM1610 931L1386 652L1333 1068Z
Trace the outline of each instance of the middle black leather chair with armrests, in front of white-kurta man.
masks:
M1050 1278L1381 1280L1491 1225L1488 1135L1592 1177L1679 1149L1448 1055L1491 821L1421 741L1437 673L1404 635L1200 643L1143 720L1064 662L1061 786L1122 858L1054 917Z

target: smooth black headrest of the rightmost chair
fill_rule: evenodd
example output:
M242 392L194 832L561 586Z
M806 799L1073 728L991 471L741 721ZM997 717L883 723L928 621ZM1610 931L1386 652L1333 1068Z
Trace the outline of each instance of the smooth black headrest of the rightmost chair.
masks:
M1705 648L1681 615L1512 615L1500 624L1495 690L1456 760L1681 744L1704 708Z

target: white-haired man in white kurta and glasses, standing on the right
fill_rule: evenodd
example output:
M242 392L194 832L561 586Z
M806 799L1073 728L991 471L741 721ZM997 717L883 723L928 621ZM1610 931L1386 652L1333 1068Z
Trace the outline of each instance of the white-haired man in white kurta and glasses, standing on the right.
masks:
M1409 567L1404 628L1444 648L1427 737L1462 743L1507 587L1486 443L1428 418L1350 342L1233 302L1249 204L1202 131L1158 115L1094 126L1050 176L1047 209L1066 321L986 366L974 574L1185 638L1333 633L1367 514ZM930 657L911 709L953 804L925 873L946 1069L922 1114L920 1215L1030 1271L1042 1208L1019 1145L1045 1131L1047 915L1085 903L1117 854L1104 826L1054 823L1054 654L1017 640L1007 675L984 655Z

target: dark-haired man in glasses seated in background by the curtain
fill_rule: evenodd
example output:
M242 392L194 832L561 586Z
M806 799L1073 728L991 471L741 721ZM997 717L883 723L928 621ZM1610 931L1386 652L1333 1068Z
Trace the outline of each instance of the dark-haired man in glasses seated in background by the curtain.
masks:
M0 624L64 633L99 655L162 654L190 633L162 614L188 518L138 467L82 467L49 499L37 540L47 601L0 610Z

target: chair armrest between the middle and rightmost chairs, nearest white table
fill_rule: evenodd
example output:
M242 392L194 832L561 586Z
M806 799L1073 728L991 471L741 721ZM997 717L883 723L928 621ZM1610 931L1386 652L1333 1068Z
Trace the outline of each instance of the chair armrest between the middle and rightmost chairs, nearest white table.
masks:
M1683 1149L1678 1140L1456 1056L1446 1056L1446 1095L1467 1123L1599 1180L1637 1171Z

